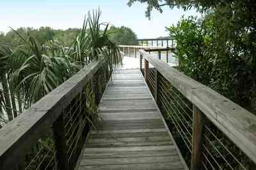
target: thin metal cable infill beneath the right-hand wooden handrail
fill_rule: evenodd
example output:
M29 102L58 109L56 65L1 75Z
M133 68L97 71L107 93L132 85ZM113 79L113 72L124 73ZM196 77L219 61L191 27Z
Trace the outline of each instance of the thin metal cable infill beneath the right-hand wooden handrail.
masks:
M188 153L191 154L193 149L193 104L189 102L178 89L174 88L172 82L167 81L165 77L156 70L157 68L155 68L154 65L152 66L150 62L145 60L142 55L140 59L141 72L144 76L147 75L145 79L148 88L157 101L164 118L169 122L168 125L170 131L174 133L175 140L180 138L187 149L187 151L184 152L184 150L181 150L181 152L184 157L188 157L185 158L185 160L189 166L190 158ZM148 62L148 68L145 68L145 66L147 66L145 65L146 62ZM213 123L208 124L209 120L207 120L205 116L203 116L203 118L204 122L207 124L204 123L202 131L201 168L252 169L253 166L251 166L251 164L253 165L253 162L250 161L250 159L246 160L247 156L239 151L239 148L237 148L232 141L229 141ZM181 147L182 145L178 143L178 146Z

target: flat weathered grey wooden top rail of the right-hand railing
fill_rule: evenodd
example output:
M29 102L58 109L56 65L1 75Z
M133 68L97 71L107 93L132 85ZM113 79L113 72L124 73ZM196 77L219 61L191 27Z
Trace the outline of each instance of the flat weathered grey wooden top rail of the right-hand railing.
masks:
M148 54L145 50L140 50L140 58L141 63L142 58L144 58L145 62L154 66L157 72L161 73L172 86L256 163L256 116L254 114L163 61L154 58L154 55ZM147 66L148 63L145 65ZM148 68L145 68L145 70L148 70ZM194 135L193 137L195 137Z

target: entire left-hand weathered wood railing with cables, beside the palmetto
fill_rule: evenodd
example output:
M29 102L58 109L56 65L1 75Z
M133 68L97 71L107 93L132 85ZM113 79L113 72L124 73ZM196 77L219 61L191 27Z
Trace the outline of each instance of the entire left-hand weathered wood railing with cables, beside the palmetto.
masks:
M74 169L109 75L92 61L1 128L0 169Z

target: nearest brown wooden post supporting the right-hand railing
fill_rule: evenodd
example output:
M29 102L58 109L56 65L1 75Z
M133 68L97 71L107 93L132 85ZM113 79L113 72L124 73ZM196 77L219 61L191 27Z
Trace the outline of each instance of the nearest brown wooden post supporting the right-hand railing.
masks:
M200 157L202 153L202 131L203 131L203 113L193 105L193 135L192 135L192 155L191 170L200 169Z

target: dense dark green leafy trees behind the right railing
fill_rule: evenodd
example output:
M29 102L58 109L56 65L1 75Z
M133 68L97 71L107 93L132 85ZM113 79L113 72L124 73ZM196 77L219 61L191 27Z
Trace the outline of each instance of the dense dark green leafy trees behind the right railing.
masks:
M135 0L138 1L138 0ZM129 5L135 2L129 1ZM146 15L161 6L191 7L200 19L182 18L168 27L177 40L180 70L238 104L256 111L256 3L254 1L140 1Z

